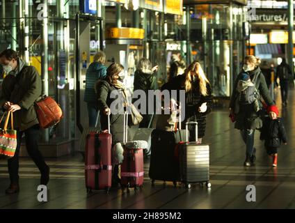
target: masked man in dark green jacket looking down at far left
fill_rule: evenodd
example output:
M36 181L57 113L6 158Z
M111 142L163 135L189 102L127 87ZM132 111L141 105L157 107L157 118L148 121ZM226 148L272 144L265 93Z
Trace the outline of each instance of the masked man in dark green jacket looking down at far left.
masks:
M42 91L38 71L33 66L26 66L13 49L6 49L0 54L0 64L6 77L3 79L0 107L13 112L14 125L17 130L17 148L15 155L8 160L10 186L6 194L19 192L19 148L22 134L25 134L26 150L40 170L40 184L49 182L49 167L38 149L40 126L34 109L34 102Z

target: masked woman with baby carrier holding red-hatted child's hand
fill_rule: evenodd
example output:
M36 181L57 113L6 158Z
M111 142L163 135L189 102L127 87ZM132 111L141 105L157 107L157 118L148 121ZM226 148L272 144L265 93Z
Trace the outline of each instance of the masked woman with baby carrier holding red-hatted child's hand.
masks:
M264 75L260 70L261 60L256 56L246 56L244 59L243 70L239 73L234 81L234 88L230 98L230 116L235 121L234 128L241 131L241 137L246 144L246 160L245 166L255 163L254 134L256 129L262 128L262 103L260 97L264 99L267 106L274 105L269 89L267 88ZM250 98L241 97L244 85L239 84L244 78L245 73L250 76L253 86L246 92ZM252 93L250 92L252 91ZM253 98L253 95L255 98ZM261 96L260 96L261 95ZM241 100L243 99L244 100ZM257 99L257 100L255 100ZM258 102L258 106L257 106ZM271 114L271 112L269 112Z

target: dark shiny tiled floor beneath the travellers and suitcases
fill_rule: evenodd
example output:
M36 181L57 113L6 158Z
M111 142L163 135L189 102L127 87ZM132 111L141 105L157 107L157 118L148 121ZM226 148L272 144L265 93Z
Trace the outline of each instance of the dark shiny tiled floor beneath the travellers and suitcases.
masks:
M51 167L48 202L37 201L38 169L29 159L20 162L19 194L6 195L8 186L6 162L0 161L0 208L295 208L295 153L294 111L295 91L290 91L287 108L280 107L288 134L288 145L279 151L278 167L271 167L259 132L255 134L257 162L255 167L244 167L245 146L239 131L234 130L227 109L215 109L207 119L207 137L210 144L210 174L212 187L193 185L186 190L183 185L173 187L155 183L148 178L149 160L145 160L143 190L122 194L113 188L86 193L83 162L79 154L47 160ZM255 185L256 201L246 201L246 186Z

